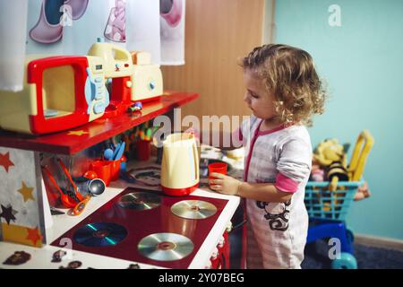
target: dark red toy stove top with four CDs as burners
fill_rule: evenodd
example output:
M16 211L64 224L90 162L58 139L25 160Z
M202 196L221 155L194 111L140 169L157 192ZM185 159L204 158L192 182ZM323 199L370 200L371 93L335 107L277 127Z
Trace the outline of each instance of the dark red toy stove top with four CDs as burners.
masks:
M127 200L138 194L142 194L142 199ZM143 199L149 202L145 203ZM178 216L176 215L178 209L176 208L175 211L173 208L171 211L171 207L174 204L176 206L183 204L184 200L213 204L217 210L210 213L210 217L201 219ZM71 230L66 231L51 245L58 247L61 239L69 238L73 241L74 250L148 265L184 269L192 263L193 257L201 248L201 244L226 204L227 200L224 199L201 196L165 196L159 191L127 187L96 212L90 214ZM166 237L155 239L156 233L164 233ZM181 247L181 243L176 240L181 241L184 239L183 236L187 239L185 245ZM150 241L150 238L154 239ZM158 240L159 244L154 244L155 240ZM162 250L176 246L177 248L174 248L172 253L167 253L154 250L152 246L144 249L143 246L141 251L140 246L144 242L159 246ZM139 245L139 243L141 244ZM155 256L156 252L157 256ZM154 256L150 256L151 253ZM179 257L172 257L172 254L175 253L179 254Z

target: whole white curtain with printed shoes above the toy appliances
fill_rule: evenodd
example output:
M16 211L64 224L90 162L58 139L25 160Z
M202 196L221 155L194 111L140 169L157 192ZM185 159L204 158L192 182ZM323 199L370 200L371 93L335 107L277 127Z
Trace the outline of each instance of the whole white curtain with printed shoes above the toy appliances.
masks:
M26 54L86 55L98 38L183 65L184 0L0 0L0 37L0 90L21 90Z

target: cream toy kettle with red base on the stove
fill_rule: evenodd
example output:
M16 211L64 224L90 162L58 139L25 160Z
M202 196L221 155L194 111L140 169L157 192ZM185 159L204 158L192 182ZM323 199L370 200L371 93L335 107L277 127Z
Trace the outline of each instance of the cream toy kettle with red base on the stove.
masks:
M199 154L194 135L168 135L162 144L162 191L168 196L189 195L199 186Z

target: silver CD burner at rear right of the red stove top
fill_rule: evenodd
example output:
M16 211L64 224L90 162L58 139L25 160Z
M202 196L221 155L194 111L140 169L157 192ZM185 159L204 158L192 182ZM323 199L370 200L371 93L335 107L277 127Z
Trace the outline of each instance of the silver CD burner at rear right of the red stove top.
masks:
M171 212L187 219L204 219L217 213L217 207L202 200L183 200L172 205Z

